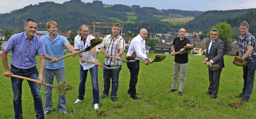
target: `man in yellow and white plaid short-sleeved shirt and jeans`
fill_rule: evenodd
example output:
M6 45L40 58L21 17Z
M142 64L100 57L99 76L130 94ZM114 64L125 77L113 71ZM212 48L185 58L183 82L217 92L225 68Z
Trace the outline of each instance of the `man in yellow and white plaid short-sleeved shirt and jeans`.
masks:
M114 23L112 27L112 34L104 37L100 51L105 56L104 65L106 66L120 66L118 69L103 69L104 78L104 91L100 99L104 99L109 94L110 78L112 79L112 91L110 93L113 102L116 101L116 94L118 89L118 77L122 66L122 61L117 58L122 58L124 53L124 38L119 35L121 25ZM109 56L115 56L116 58L109 58Z

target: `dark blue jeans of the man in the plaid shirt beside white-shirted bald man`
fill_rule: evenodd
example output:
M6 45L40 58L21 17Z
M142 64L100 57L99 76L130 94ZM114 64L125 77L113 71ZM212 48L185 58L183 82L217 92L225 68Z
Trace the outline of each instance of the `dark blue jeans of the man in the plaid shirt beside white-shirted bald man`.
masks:
M104 64L105 65L105 64ZM111 97L116 97L118 89L118 77L121 71L122 65L118 69L103 69L104 78L104 91L103 94L108 95L110 89L110 78L112 78L112 91L110 93Z

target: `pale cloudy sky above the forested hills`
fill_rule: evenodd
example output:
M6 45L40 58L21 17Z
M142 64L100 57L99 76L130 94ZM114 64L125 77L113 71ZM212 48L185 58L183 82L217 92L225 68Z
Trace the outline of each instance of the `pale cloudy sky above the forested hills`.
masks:
M9 13L30 4L53 1L62 4L70 0L0 0L0 13ZM91 2L94 0L81 0ZM140 7L154 7L156 9L178 9L178 10L234 10L256 8L256 0L100 0L103 4L124 4L127 6L139 5Z

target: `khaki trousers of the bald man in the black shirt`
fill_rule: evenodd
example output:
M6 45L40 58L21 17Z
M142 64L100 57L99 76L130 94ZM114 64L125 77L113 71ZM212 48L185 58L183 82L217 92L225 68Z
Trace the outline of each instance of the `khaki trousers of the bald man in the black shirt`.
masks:
M186 83L187 67L188 67L188 63L176 63L175 61L173 62L173 72L172 72L173 77L172 77L171 89L177 89L179 71L180 71L180 86L178 91L183 92L183 89Z

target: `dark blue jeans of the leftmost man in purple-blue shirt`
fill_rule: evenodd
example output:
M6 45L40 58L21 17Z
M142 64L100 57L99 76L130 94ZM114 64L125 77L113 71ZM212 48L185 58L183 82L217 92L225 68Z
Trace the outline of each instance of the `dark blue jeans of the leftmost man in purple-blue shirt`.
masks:
M38 79L38 71L36 67L28 71L20 71L11 67L11 72L14 75L29 77L31 79ZM13 107L14 107L15 118L23 119L22 101L21 101L23 79L11 77L11 81L12 81L12 91L14 94ZM28 84L34 98L34 109L36 111L36 118L44 119L44 110L43 110L41 93L40 93L40 85L32 81L28 81Z

